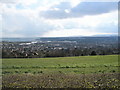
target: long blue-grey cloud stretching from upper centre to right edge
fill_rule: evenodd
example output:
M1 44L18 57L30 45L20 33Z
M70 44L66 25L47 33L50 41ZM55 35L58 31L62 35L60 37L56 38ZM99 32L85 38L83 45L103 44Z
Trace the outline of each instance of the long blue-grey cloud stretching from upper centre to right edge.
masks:
M63 7L62 7L63 6ZM69 8L68 8L69 6ZM47 10L40 12L40 16L44 18L50 19L64 19L64 18L75 18L82 17L86 15L97 15L108 13L118 9L117 2L81 2L76 7L71 7L69 2L61 3L58 6L54 6L54 8L58 8L59 10ZM70 12L65 12L65 9L69 9Z

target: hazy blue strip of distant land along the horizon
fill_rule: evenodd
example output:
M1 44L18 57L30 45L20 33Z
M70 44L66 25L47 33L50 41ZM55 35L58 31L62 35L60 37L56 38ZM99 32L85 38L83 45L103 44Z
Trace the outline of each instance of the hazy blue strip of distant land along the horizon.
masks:
M35 41L76 41L82 39L92 39L92 38L108 38L108 36L101 36L101 37L36 37L36 38L0 38L0 41L7 41L7 42L35 42ZM109 39L117 38L114 36L109 36Z

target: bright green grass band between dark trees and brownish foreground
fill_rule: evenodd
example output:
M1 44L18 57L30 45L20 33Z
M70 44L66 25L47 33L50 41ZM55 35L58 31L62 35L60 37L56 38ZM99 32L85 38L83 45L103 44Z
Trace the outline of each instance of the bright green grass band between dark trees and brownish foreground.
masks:
M118 72L118 55L3 59L3 74Z

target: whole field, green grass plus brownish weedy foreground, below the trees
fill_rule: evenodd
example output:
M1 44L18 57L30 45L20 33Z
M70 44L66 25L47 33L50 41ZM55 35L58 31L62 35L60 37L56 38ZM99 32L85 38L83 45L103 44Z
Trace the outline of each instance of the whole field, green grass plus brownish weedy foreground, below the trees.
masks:
M2 59L4 88L119 88L118 55Z

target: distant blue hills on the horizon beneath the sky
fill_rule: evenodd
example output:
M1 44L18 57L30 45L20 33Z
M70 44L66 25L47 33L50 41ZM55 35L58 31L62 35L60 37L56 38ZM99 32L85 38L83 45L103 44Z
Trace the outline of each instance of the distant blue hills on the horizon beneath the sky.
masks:
M94 35L94 36L71 36L71 37L33 37L33 38L0 38L0 41L5 42L32 42L32 41L76 41L85 38L99 37L117 37L118 35Z

